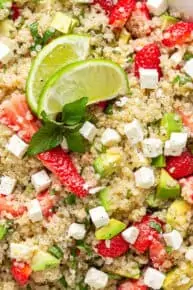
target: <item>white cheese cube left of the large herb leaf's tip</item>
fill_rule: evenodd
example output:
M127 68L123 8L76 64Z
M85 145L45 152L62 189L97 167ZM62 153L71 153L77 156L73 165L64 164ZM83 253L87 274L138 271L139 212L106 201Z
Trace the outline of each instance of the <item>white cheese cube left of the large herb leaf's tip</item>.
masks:
M17 135L13 135L9 139L9 142L6 145L6 149L21 159L28 149L28 144L23 142Z

